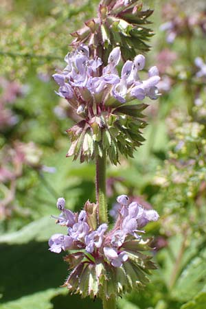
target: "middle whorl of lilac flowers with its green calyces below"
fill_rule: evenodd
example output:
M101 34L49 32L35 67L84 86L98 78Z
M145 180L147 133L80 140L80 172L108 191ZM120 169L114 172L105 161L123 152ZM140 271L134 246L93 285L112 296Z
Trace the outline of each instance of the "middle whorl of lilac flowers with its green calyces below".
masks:
M58 95L65 98L82 120L67 130L71 148L67 156L80 156L80 161L92 159L94 152L106 155L117 163L119 152L133 157L135 148L144 138L139 129L146 126L141 111L146 104L134 104L148 97L157 99L160 80L157 67L151 67L148 78L140 80L139 71L144 69L143 55L127 60L119 76L117 65L121 60L119 47L115 47L104 66L100 57L89 57L89 47L81 45L67 54L67 66L54 74L60 85Z

